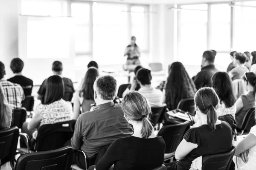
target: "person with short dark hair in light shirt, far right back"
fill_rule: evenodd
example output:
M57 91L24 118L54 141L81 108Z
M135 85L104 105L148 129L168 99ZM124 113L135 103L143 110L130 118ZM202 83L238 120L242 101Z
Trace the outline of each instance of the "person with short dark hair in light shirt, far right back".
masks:
M229 72L229 76L232 80L241 79L245 72L249 71L245 67L246 55L244 53L236 53L234 58L234 65L236 66Z

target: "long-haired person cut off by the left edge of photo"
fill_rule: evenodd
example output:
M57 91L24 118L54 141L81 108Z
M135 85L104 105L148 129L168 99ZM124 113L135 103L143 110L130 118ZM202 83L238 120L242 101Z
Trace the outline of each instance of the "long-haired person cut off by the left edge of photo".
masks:
M0 130L11 127L12 123L12 107L8 104L0 85Z

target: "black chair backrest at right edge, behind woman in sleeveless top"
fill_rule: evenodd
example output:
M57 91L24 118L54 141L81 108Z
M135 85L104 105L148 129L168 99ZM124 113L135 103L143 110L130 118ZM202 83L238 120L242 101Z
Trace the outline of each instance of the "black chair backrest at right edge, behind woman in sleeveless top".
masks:
M249 109L247 113L245 113L241 130L247 130L250 131L251 127L255 125L255 108Z

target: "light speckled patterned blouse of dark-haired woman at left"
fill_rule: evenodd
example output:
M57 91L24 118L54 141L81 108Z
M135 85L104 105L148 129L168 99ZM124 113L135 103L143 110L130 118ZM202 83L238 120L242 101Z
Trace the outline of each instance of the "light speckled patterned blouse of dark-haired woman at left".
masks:
M40 122L40 126L42 126L71 120L73 109L70 102L60 99L49 105L39 105L36 108L35 113L40 114L42 117Z

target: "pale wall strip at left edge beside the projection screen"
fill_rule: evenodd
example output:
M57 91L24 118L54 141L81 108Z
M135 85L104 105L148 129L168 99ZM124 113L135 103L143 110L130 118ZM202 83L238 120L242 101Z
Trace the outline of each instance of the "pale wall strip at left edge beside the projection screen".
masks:
M18 0L0 0L0 61L6 77L12 76L10 62L18 56Z

